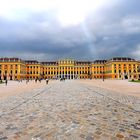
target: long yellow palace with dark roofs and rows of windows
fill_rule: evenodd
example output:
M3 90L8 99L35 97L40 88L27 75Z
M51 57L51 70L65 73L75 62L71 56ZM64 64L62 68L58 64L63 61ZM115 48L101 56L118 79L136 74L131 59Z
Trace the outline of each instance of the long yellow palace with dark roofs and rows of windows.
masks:
M140 61L127 57L109 60L38 62L0 58L0 80L21 79L140 79Z

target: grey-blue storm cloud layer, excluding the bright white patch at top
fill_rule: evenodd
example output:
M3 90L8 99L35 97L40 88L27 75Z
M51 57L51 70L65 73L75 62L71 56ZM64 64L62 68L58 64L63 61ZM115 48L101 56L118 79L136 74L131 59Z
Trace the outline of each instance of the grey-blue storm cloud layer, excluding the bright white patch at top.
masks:
M29 12L19 20L0 17L0 55L38 60L140 59L139 5L138 0L118 0L90 13L85 23L68 27L61 26L53 11Z

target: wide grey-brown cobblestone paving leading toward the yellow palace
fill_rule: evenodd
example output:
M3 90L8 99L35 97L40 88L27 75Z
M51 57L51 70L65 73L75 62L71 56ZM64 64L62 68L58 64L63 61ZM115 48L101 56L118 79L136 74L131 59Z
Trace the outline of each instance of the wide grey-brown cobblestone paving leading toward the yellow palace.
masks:
M0 140L140 139L140 98L77 80L0 100Z

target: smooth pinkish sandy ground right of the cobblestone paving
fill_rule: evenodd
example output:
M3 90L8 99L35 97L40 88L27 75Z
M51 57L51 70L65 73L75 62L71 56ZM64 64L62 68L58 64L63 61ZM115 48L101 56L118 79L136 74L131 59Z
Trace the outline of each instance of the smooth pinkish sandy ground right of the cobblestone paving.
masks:
M128 80L113 80L102 79L98 80L80 80L84 84L88 84L94 87L101 87L111 91L118 92L120 94L132 95L140 97L140 83L128 82Z

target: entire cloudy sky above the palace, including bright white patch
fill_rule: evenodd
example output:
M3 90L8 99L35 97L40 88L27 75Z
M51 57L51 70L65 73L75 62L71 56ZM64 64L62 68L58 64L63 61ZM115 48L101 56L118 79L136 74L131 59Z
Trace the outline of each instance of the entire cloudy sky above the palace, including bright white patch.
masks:
M138 0L0 0L0 57L140 59Z

